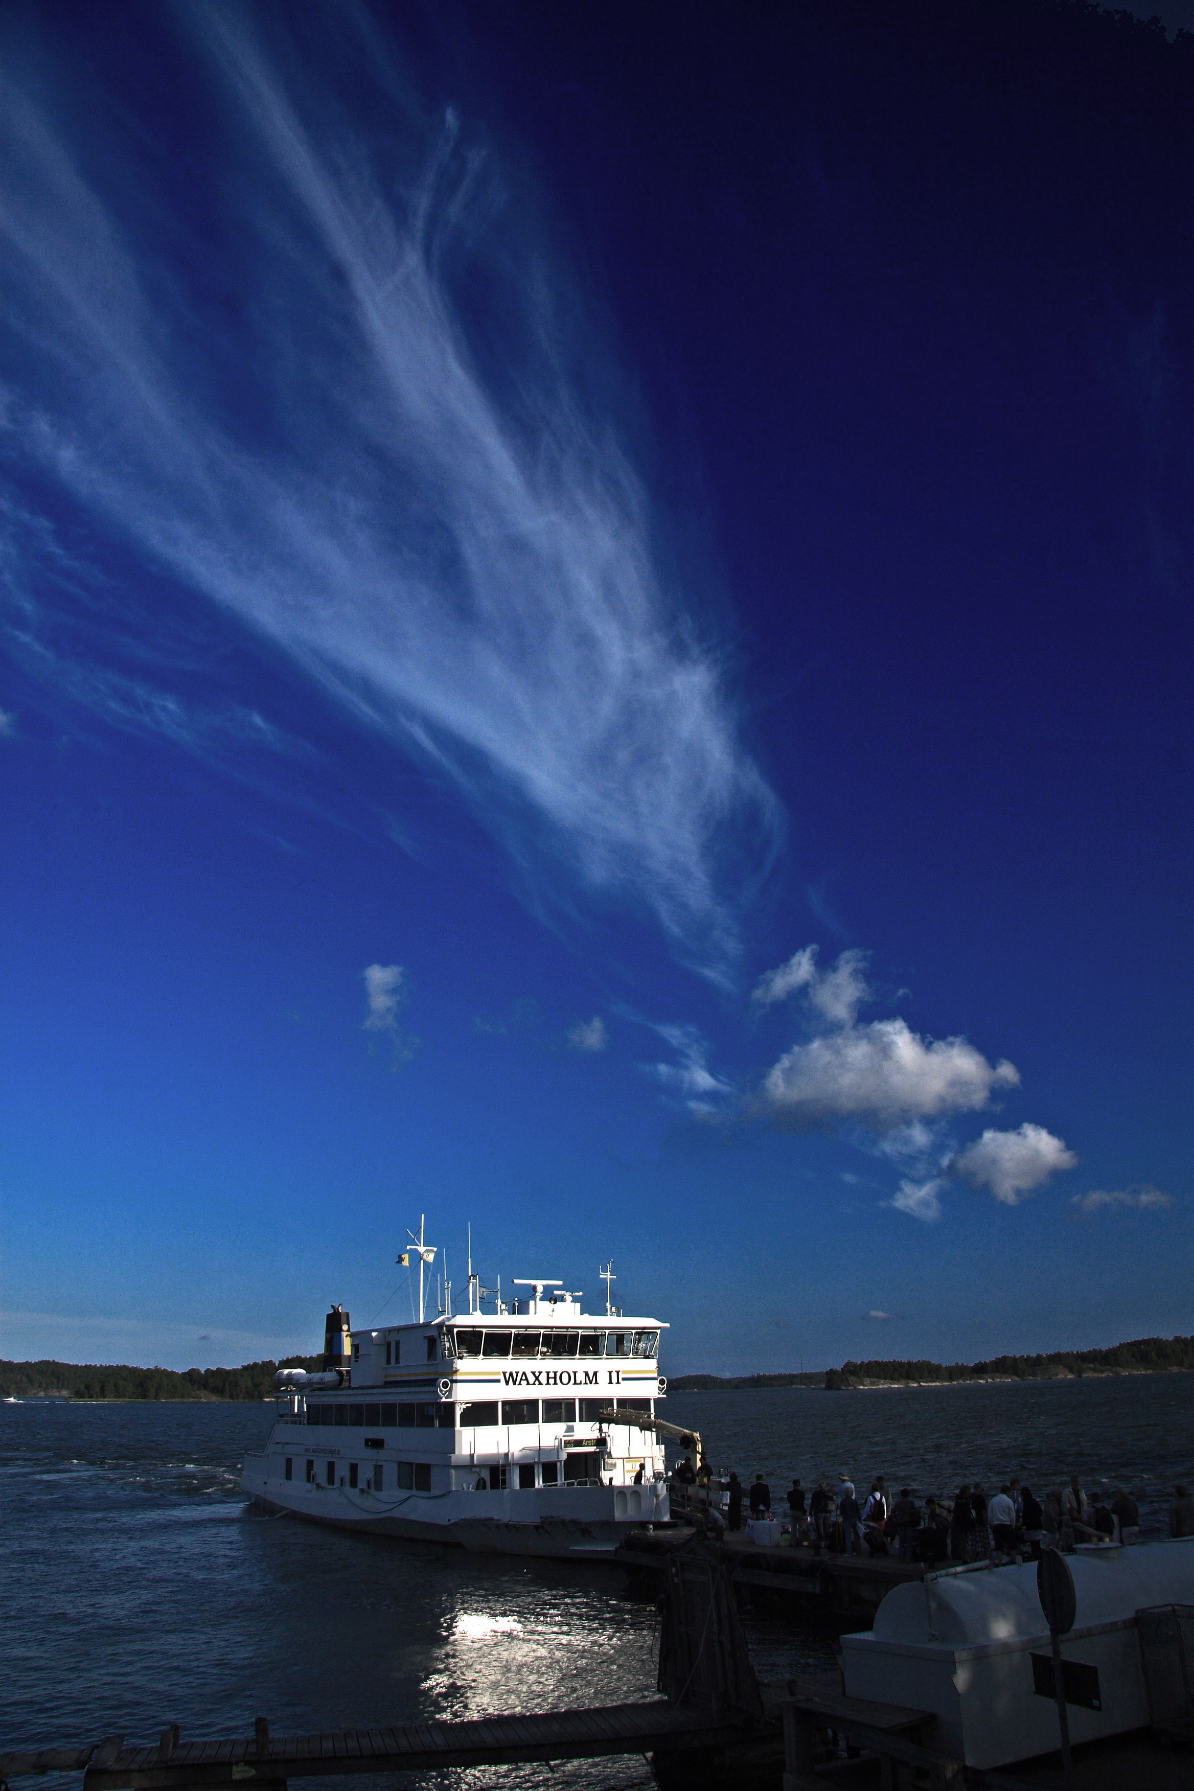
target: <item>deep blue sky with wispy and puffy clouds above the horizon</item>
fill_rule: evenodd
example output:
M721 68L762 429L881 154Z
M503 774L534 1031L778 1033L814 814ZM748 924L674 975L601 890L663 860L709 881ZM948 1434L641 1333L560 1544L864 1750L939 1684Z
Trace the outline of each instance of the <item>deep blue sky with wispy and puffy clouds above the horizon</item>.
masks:
M1194 1329L1194 38L0 36L0 1350Z

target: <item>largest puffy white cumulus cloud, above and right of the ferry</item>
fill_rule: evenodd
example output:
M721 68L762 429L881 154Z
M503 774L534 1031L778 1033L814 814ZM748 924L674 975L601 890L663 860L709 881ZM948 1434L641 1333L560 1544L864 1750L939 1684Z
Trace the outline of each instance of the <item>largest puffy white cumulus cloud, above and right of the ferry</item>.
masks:
M922 1039L899 1017L877 1019L786 1051L763 1080L759 1109L800 1128L852 1119L890 1132L986 1107L1019 1080L1013 1064L988 1064L965 1039Z

